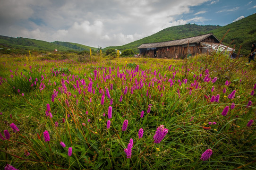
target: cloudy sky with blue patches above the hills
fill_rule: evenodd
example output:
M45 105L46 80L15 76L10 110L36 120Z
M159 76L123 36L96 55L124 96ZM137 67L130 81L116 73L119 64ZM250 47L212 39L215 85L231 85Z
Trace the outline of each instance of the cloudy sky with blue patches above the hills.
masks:
M1 0L0 35L104 48L170 26L225 26L255 11L255 0Z

